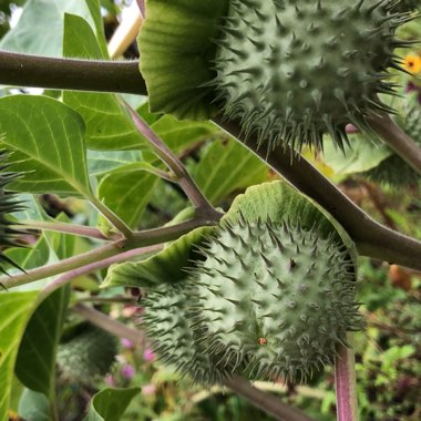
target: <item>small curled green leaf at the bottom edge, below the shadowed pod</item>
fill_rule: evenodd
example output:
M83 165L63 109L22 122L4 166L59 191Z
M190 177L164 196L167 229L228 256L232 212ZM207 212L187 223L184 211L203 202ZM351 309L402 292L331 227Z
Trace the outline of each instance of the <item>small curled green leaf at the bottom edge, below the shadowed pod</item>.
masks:
M92 398L85 421L120 421L140 391L141 388L101 390Z

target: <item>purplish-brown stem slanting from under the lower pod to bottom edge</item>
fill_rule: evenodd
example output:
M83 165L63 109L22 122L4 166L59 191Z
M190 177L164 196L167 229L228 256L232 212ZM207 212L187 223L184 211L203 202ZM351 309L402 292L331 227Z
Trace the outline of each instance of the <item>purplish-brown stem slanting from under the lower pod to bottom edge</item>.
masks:
M235 376L233 379L225 380L224 384L234 390L237 394L253 402L257 408L270 413L276 420L280 421L314 421L300 410L279 401L279 398L264 392L243 377Z

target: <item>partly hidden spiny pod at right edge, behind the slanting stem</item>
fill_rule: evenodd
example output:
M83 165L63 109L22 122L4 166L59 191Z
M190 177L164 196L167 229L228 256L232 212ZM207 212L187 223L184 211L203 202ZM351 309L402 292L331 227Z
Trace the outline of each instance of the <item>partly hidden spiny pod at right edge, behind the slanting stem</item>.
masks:
M397 119L398 124L421 146L421 105L418 101L411 101L404 114L405 119ZM396 153L383 160L374 168L364 172L363 176L376 183L396 187L411 185L420 179L420 174Z

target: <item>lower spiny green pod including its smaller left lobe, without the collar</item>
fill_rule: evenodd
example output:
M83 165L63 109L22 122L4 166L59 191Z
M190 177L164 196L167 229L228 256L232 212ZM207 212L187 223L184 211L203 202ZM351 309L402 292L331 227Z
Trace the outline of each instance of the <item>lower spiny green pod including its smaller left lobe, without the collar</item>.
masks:
M316 227L240 218L201 251L187 283L144 302L155 351L196 381L304 381L360 328L348 251Z

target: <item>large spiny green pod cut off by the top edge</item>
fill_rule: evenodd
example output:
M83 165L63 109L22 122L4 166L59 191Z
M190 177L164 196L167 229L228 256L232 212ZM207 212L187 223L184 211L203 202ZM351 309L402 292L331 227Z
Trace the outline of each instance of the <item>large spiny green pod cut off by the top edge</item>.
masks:
M342 146L348 123L390 111L378 94L393 93L386 70L404 17L388 3L232 0L213 82L225 115L274 145L320 148L328 132Z

